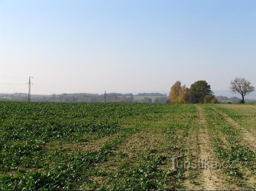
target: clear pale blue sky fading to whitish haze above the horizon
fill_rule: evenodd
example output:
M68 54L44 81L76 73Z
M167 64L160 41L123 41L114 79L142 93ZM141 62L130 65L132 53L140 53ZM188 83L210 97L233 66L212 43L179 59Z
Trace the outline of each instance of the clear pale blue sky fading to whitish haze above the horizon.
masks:
M34 94L224 90L236 76L256 86L255 73L255 0L0 0L0 75L34 76ZM27 92L0 84L14 89Z

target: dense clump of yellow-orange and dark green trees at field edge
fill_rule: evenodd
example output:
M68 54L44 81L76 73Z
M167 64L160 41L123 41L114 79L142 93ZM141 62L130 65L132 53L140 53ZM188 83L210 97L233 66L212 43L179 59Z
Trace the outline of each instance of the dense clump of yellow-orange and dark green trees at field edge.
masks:
M206 81L199 80L190 88L177 81L171 87L169 103L217 103L212 94L211 86Z

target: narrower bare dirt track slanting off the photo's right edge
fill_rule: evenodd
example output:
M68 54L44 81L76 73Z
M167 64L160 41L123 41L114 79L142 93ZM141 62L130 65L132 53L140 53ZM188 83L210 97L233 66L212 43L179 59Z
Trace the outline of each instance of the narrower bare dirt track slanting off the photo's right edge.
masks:
M252 132L248 131L246 128L239 125L236 121L234 121L231 117L229 117L227 114L217 110L213 107L215 111L217 111L219 114L221 114L225 120L232 126L238 128L241 130L243 141L247 144L250 149L252 149L254 152L256 152L256 137L253 136Z

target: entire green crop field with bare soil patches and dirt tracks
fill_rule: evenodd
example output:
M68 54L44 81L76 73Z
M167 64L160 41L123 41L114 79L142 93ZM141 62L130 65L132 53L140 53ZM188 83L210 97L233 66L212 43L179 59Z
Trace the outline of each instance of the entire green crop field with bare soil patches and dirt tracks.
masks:
M256 104L0 102L0 190L256 189Z

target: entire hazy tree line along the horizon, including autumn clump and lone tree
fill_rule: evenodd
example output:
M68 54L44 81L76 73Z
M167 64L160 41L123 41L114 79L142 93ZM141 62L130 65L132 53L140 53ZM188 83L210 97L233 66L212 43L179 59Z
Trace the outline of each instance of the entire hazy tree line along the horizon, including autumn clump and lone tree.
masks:
M225 100L224 103L232 101L233 103L244 103L245 95L255 91L255 88L251 86L251 82L242 78L236 77L230 83L230 91L233 93L239 93L242 97L240 100L237 97L227 98L224 96L213 95L211 85L204 80L199 80L193 83L190 88L186 85L182 85L180 81L176 81L171 89L169 96L162 93L138 93L136 95L132 93L108 93L106 97L107 102L129 102L129 103L219 103ZM27 95L24 93L14 93L10 96L8 94L2 94L2 98L25 101ZM138 97L141 97L138 99ZM150 98L151 97L151 98ZM0 99L2 99L0 98ZM49 96L34 97L32 95L32 101L42 102L104 102L104 94L94 93L63 93L52 94Z

